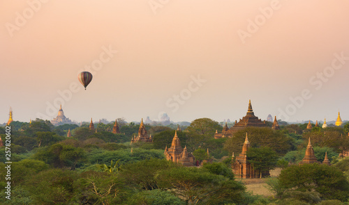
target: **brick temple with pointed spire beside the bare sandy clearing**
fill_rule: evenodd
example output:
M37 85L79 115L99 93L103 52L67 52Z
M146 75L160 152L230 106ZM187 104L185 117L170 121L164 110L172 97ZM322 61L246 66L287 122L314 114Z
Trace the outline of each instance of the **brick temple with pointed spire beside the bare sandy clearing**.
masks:
M235 161L232 163L232 172L238 178L246 179L246 178L260 177L260 173L253 169L253 166L251 165L251 163L248 162L248 158L246 156L246 152L248 151L250 146L251 145L250 145L250 142L248 141L247 133L246 133L245 142L244 142L244 145L242 146L242 153L239 154L239 156L237 156L235 158Z

